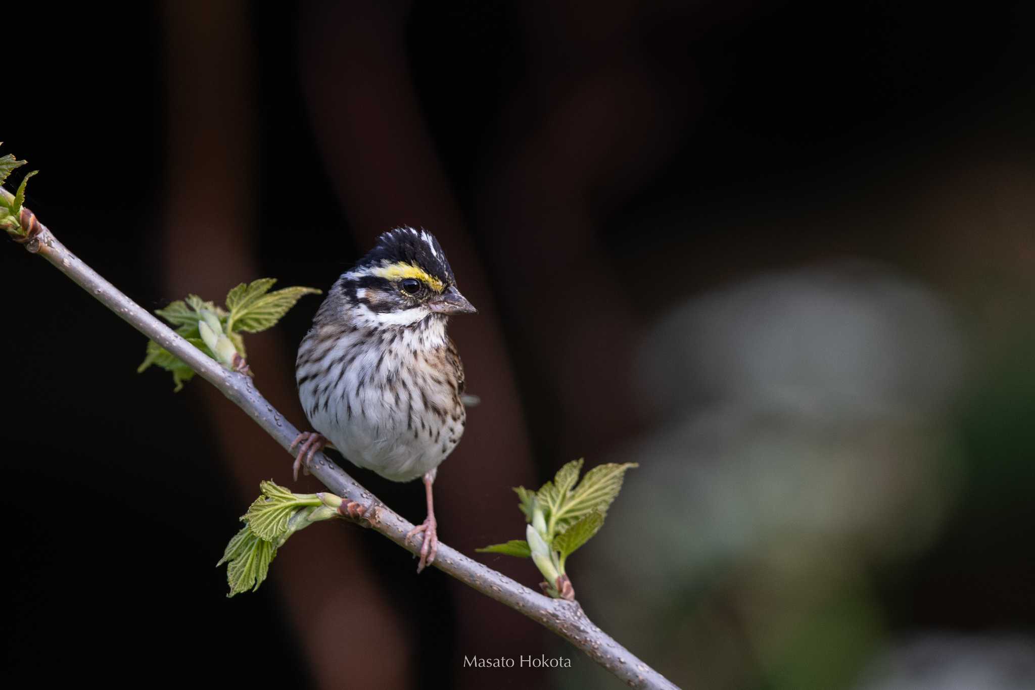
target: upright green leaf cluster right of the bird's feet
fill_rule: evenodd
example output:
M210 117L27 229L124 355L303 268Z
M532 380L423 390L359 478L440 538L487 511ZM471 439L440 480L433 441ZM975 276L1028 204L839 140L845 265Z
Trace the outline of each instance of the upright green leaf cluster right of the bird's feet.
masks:
M608 509L622 489L625 472L638 467L635 462L609 462L593 468L580 481L582 466L582 458L566 463L537 491L515 487L518 507L528 523L527 539L477 550L532 558L546 577L548 592L559 596L553 580L566 578L567 558L600 531ZM537 552L540 558L536 558Z

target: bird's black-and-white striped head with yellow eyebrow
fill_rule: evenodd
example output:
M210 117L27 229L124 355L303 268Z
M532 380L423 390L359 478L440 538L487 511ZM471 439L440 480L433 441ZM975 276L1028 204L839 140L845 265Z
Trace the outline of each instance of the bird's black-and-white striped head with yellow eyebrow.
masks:
M342 276L337 289L363 310L364 320L382 326L411 326L433 314L476 311L456 290L439 241L413 228L381 235L377 246Z

